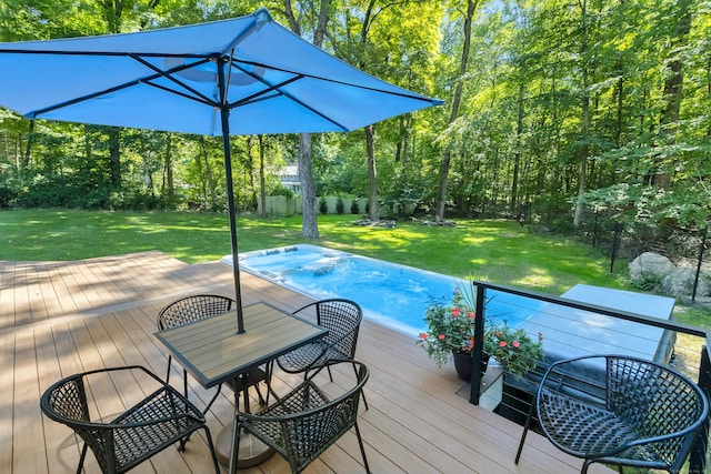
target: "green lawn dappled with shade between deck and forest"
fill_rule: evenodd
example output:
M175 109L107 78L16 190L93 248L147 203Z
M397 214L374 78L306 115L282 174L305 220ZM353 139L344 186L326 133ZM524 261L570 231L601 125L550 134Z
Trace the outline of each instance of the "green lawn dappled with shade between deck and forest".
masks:
M320 238L308 241L438 273L487 279L550 294L577 283L631 289L618 262L573 239L529 233L511 221L458 221L455 228L398 222L394 229L354 226L352 215L320 215ZM238 218L240 252L307 242L301 216ZM230 253L226 214L194 212L0 212L0 260L69 261L159 250L187 263Z

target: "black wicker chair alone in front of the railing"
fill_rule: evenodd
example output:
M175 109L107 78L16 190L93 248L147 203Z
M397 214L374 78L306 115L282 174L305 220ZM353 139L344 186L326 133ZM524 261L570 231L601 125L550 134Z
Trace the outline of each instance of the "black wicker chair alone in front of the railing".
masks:
M541 380L525 421L535 416L557 447L592 463L678 473L709 412L705 395L663 365L621 355L553 363Z

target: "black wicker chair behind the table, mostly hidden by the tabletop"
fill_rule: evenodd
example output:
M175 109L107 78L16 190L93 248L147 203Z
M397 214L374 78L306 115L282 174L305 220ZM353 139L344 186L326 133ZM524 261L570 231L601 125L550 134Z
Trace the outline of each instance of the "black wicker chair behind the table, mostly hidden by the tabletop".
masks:
M234 301L217 294L194 294L186 296L180 300L173 301L163 307L158 313L158 330L164 331L171 327L181 326L196 321L204 320L207 317L217 316L218 314L227 313L234 305ZM172 364L172 356L168 355L168 372L166 374L166 383L170 382L170 371ZM188 372L183 369L183 394L188 397ZM247 390L250 386L259 384L259 382L266 381L267 373L261 369L252 369L248 373L240 376L238 381L229 382L228 385L236 391L244 392L244 401L248 403ZM212 399L206 405L203 413L207 413L218 395L220 394L221 385L218 386L217 392ZM262 393L257 389L260 403L264 404L264 397Z

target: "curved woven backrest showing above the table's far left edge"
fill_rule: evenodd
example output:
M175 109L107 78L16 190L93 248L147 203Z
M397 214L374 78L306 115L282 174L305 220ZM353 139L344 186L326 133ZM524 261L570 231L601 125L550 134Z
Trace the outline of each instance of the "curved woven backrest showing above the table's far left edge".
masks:
M181 326L206 317L227 313L234 301L218 294L193 294L173 301L158 313L158 329L160 331Z

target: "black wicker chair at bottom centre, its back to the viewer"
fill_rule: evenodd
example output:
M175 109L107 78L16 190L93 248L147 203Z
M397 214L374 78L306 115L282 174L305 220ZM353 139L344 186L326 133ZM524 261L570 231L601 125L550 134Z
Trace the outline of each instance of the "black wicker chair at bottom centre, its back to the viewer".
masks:
M356 385L344 394L329 400L317 386L313 377L326 366L322 365L277 403L257 414L240 413L238 427L252 433L284 457L292 473L302 472L353 427L363 466L365 472L370 473L358 428L358 402L368 381L368 367L357 361L341 363L349 363L356 367ZM238 436L240 432L237 430ZM239 442L238 437L238 448Z

